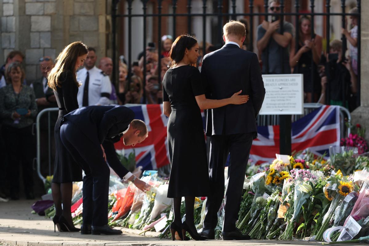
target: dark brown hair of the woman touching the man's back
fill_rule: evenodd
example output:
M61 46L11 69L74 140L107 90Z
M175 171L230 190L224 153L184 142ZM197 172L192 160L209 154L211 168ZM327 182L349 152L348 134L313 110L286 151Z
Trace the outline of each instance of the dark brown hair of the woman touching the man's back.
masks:
M197 44L197 39L188 34L179 35L172 44L169 52L169 67L176 66L184 57L186 49L191 49ZM191 64L196 66L196 64Z

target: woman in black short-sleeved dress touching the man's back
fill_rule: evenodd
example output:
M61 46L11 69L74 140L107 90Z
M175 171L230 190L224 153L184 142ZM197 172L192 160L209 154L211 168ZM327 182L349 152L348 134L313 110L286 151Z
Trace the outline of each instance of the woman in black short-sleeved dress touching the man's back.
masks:
M199 44L189 35L177 37L170 50L172 63L163 78L163 112L169 117L168 148L170 177L168 197L173 198L174 221L170 225L172 240L175 232L181 239L186 231L195 240L204 240L194 225L193 209L195 197L210 193L209 171L201 111L223 107L228 104L246 103L249 96L222 100L206 99L200 72L196 68ZM180 205L182 197L186 203L186 221L181 223Z

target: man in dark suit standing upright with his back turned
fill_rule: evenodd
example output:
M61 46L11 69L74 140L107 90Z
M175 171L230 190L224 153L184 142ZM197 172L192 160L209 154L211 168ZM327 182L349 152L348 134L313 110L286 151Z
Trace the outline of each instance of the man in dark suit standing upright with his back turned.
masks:
M207 198L206 215L199 234L214 239L217 212L224 195L224 166L230 153L222 235L223 240L245 240L249 236L242 234L235 224L252 140L257 137L255 118L265 89L258 57L240 49L245 39L244 24L230 21L224 25L223 33L225 45L203 59L201 78L206 97L219 100L242 90L250 99L245 104L229 104L207 111L206 135L211 137L209 176L213 189Z

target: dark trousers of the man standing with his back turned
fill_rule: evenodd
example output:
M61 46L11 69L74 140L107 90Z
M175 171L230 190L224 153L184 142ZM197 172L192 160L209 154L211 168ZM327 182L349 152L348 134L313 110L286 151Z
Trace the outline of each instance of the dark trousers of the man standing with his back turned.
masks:
M213 229L217 226L217 213L224 196L224 166L229 153L223 231L231 232L236 229L253 135L246 133L211 136L209 162L211 195L206 202L204 229Z

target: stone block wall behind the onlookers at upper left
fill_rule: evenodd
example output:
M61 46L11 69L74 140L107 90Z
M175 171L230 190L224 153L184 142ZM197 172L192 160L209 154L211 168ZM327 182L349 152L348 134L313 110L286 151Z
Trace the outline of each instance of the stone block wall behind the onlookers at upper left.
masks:
M27 80L41 76L38 60L53 59L74 41L96 48L98 57L107 55L105 0L0 0L0 64L13 49L26 56Z

